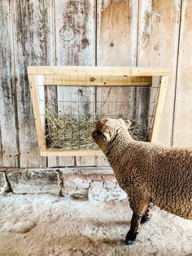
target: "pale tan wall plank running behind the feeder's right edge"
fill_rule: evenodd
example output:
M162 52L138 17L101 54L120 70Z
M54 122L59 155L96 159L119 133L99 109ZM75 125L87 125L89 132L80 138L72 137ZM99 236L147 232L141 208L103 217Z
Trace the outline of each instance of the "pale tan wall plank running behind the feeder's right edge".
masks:
M138 66L162 66L170 71L170 80L161 117L158 140L171 145L172 115L177 68L180 0L139 1ZM162 136L163 135L163 136Z

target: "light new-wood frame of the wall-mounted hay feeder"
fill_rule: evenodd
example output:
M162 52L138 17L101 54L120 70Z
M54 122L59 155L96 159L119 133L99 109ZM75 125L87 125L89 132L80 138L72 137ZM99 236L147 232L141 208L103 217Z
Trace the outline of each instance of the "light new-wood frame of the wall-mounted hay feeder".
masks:
M70 82L68 75L70 74ZM41 121L41 109L37 92L37 75L46 75L43 81L47 85L70 85L70 86L151 86L151 77L161 77L159 94L157 98L154 123L151 130L151 142L157 142L159 122L163 115L164 100L168 88L168 69L166 68L132 68L132 67L28 67L28 81L33 101L33 113L37 128L37 138L41 157L47 156L99 156L103 155L100 149L95 150L63 150L46 148L45 130ZM54 76L54 77L53 77ZM76 84L72 76L81 76L81 81ZM48 77L48 79L47 79ZM84 78L83 78L84 77ZM94 77L94 79L92 78ZM104 79L103 79L104 77ZM110 83L109 79L110 77ZM143 78L144 77L144 78ZM142 79L141 79L142 78Z

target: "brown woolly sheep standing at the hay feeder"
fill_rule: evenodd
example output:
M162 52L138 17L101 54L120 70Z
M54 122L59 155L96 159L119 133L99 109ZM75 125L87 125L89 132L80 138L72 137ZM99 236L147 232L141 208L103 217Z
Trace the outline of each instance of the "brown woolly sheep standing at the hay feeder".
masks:
M140 223L150 220L153 205L192 219L192 150L134 140L130 126L129 120L105 118L92 132L129 196L133 216L126 245L136 240Z

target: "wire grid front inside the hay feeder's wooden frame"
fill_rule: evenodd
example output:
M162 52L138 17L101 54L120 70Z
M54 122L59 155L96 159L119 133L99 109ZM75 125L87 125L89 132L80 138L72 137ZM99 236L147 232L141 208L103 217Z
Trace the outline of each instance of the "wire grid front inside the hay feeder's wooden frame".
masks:
M91 76L93 85L90 86L85 76L80 78L78 75L74 79L74 76L68 75L68 85L64 82L63 74L60 81L59 75L56 78L51 76L51 79L47 75L36 76L46 148L98 148L91 131L94 130L95 121L105 117L129 119L132 121L129 131L133 138L149 140L159 77L153 78L152 86L120 86L120 77L116 79L116 86L111 86L111 77L107 79L107 86L103 86L105 80L102 77L102 85L98 86L94 84L96 78ZM51 82L47 82L49 79Z

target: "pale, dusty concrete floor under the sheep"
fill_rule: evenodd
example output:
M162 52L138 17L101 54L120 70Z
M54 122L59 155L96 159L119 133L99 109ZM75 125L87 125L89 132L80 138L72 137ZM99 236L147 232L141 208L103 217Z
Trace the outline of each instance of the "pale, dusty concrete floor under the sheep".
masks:
M192 221L155 208L134 245L124 245L131 210L124 201L50 195L0 196L0 255L192 255Z

